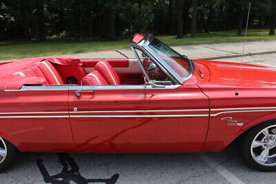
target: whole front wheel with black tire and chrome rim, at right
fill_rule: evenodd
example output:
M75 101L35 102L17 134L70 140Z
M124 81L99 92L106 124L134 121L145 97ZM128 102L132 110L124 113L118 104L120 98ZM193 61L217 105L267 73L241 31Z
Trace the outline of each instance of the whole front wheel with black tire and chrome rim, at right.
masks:
M253 127L242 143L242 155L256 170L276 170L276 123L268 121Z

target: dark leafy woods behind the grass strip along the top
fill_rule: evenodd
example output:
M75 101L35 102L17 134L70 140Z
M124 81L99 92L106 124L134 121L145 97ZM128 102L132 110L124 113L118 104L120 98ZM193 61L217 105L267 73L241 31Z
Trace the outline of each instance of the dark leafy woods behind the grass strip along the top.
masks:
M113 40L124 34L131 37L134 32L175 34L177 28L186 35L192 27L194 2L0 0L0 39L41 39L41 34L46 34L47 38L71 37L80 41L98 36ZM248 27L275 29L276 0L199 0L197 32L244 28L249 2L252 9ZM177 19L177 6L181 6L181 19Z

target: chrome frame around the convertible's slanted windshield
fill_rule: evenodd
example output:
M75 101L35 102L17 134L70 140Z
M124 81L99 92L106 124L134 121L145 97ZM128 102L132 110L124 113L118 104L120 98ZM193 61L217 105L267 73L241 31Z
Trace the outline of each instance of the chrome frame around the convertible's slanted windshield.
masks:
M159 66L159 68L161 68L161 70L166 73L170 79L172 79L172 81L175 84L184 84L185 81L187 81L188 79L190 79L190 77L193 76L194 72L195 72L195 65L193 63L193 61L191 61L190 59L188 60L189 62L189 67L192 68L192 71L187 75L184 76L183 78L181 78L176 72L175 70L172 70L172 68L170 68L170 66L163 60L161 59L161 57L159 57L159 55L152 50L149 45L152 41L152 39L154 39L154 36L152 34L149 34L148 36L146 36L142 41L140 41L137 44L130 44L131 48L138 48L140 50L142 50L143 52L145 52L145 54L148 54L148 56L155 61L155 63ZM132 49L133 52L135 52L135 50ZM176 51L175 51L176 52ZM178 52L177 52L178 53ZM137 54L135 54L135 56L137 57ZM137 60L139 61L139 58L137 58ZM143 70L143 69L142 69ZM143 70L144 72L144 70ZM147 74L145 74L147 75Z

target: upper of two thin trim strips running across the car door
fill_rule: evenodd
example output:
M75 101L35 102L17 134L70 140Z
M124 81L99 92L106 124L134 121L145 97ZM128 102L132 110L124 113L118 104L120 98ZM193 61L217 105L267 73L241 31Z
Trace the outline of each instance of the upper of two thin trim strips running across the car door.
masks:
M110 110L110 111L72 111L70 113L126 113L126 112L194 112L194 111L209 111L209 109L199 110Z

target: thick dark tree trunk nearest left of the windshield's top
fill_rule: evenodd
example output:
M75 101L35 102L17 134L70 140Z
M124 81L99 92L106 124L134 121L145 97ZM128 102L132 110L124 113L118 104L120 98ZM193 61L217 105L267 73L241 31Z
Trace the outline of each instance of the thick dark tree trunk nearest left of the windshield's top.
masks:
M103 8L103 38L108 40L115 39L115 22L113 10L109 7Z

